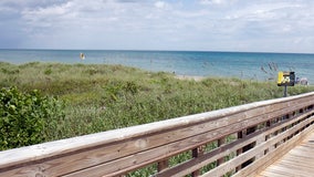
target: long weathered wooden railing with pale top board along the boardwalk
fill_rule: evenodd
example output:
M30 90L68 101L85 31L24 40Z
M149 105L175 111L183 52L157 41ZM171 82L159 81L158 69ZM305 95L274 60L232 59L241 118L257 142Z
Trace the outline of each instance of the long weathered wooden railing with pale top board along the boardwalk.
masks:
M313 129L307 93L0 152L0 176L254 176Z

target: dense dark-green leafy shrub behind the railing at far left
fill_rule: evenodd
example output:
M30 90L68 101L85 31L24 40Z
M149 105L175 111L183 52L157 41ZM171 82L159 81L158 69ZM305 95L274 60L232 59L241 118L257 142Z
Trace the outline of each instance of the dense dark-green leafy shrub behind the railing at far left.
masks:
M0 91L0 150L45 140L45 127L63 116L62 103L39 91L21 93L15 87Z

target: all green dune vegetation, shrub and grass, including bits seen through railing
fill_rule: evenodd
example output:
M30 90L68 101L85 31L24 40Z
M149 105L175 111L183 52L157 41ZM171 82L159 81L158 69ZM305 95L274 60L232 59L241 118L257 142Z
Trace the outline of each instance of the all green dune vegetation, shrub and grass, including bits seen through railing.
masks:
M313 86L289 87L290 95L313 91ZM195 79L122 65L0 62L0 150L282 95L274 81ZM190 158L191 154L180 154L169 165ZM156 168L127 176L149 176Z

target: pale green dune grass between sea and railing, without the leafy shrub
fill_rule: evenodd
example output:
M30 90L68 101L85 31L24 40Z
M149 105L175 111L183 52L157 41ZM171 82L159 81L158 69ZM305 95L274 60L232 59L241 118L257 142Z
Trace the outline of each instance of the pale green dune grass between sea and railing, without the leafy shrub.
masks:
M32 62L0 63L0 87L23 92L39 90L65 103L65 117L51 121L46 140L145 124L255 101L282 97L273 82L238 79L178 80L170 73L153 73L105 64ZM289 94L314 91L289 87Z

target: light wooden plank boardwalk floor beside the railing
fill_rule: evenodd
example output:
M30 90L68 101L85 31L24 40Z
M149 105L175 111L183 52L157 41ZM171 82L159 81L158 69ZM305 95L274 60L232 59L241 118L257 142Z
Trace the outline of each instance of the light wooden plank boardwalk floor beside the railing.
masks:
M314 132L269 166L259 177L313 177L314 176Z

